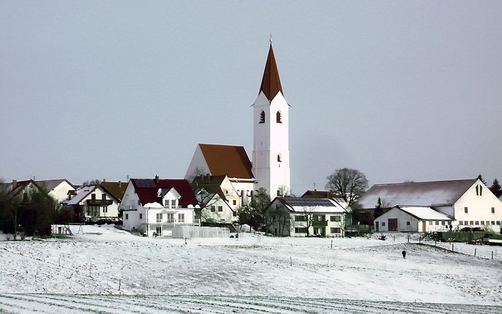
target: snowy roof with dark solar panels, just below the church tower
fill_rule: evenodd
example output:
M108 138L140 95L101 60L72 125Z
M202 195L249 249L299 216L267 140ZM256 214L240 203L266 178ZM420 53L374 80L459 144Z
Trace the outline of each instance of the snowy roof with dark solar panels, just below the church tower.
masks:
M346 213L347 210L330 198L276 197L291 212L302 213ZM274 201L272 201L274 202Z

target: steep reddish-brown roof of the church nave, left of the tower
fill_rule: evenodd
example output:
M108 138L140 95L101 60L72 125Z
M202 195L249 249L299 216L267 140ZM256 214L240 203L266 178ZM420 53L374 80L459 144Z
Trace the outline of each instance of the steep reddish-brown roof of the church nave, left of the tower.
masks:
M242 146L199 144L211 175L253 179L252 165Z

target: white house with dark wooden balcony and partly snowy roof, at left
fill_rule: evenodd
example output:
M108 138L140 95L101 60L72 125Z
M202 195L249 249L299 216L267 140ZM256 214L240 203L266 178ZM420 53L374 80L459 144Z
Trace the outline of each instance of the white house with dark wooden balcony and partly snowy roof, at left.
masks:
M67 194L61 202L63 207L73 207L75 213L86 219L118 218L118 200L101 185L81 186Z

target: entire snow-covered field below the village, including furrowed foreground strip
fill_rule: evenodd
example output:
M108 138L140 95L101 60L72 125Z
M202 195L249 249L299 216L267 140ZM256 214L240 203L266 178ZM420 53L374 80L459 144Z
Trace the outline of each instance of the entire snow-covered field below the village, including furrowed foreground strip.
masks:
M476 246L474 257L473 246L456 243L472 255L452 253L403 234L185 245L83 229L71 239L0 241L0 312L502 312L495 247Z

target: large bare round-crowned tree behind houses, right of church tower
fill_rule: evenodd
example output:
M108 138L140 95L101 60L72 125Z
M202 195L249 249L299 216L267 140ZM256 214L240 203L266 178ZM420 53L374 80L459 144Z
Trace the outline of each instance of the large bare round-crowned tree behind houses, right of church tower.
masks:
M336 169L326 178L328 179L326 188L343 197L349 206L352 206L368 188L366 176L356 169Z

